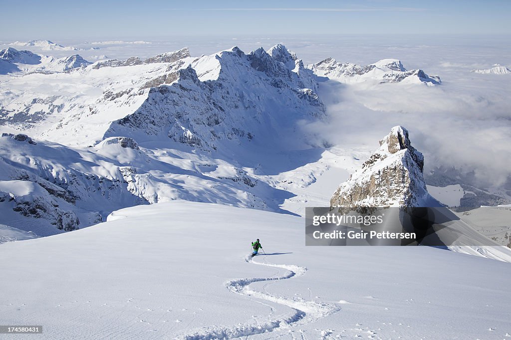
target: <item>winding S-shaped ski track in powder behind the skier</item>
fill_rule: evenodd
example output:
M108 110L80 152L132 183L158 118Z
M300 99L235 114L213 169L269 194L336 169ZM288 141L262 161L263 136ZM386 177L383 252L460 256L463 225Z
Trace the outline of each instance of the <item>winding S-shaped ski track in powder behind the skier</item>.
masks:
M190 334L184 334L178 337L183 340L203 340L203 339L231 339L241 336L249 336L271 332L276 329L286 329L293 325L303 325L314 322L320 318L324 318L341 308L334 304L323 303L318 301L305 300L303 298L288 298L285 296L274 296L266 292L266 285L263 287L264 292L254 291L250 289L249 285L254 282L262 281L279 281L286 280L293 277L305 275L307 268L295 265L276 265L271 263L261 263L252 261L250 255L246 256L245 261L259 266L273 267L277 269L287 270L287 274L278 277L264 277L264 278L242 278L227 281L226 288L236 294L250 296L257 299L262 299L281 305L285 305L293 309L293 312L283 315L277 319L269 319L265 322L238 324L236 326L209 326L203 327L198 331ZM263 302L254 300L255 302ZM268 305L271 309L270 317L275 312L275 309Z

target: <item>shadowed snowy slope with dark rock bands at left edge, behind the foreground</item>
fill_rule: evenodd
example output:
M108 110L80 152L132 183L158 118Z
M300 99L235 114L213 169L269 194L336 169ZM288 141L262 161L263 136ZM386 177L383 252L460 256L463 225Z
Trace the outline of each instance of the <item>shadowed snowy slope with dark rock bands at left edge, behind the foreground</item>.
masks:
M0 221L11 227L48 236L147 203L128 190L119 166L98 154L26 135L4 134L0 145Z

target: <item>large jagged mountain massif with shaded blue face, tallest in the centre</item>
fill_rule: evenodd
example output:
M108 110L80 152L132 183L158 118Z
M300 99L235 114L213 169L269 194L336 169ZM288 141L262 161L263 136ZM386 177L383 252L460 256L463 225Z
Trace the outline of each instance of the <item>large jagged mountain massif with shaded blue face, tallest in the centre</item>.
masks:
M103 137L143 132L144 139L160 136L208 151L228 148L229 141L271 143L296 119L324 116L312 72L299 62L294 68L294 61L290 70L262 48L202 56L169 73L172 82L151 86L142 106L113 121ZM261 124L269 119L271 126Z

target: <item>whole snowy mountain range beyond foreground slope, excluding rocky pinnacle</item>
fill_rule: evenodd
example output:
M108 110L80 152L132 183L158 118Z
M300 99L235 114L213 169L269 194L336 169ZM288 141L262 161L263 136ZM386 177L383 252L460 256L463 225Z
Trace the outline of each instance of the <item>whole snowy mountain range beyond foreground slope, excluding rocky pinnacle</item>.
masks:
M318 95L325 79L441 84L399 60L305 66L282 44L249 54L233 47L192 57L183 48L95 63L10 47L0 62L8 73L0 82L7 131L0 223L39 236L176 199L291 213L283 208L295 196L290 188L315 181L308 166L330 146L306 128L329 121ZM405 129L392 131L409 145Z

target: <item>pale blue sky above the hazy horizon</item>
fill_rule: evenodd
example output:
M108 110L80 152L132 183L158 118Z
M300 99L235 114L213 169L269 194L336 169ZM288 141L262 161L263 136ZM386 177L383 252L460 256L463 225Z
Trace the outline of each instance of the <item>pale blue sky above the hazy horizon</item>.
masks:
M511 34L508 0L0 0L0 39Z

